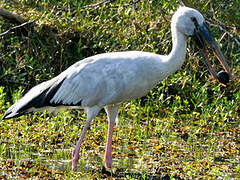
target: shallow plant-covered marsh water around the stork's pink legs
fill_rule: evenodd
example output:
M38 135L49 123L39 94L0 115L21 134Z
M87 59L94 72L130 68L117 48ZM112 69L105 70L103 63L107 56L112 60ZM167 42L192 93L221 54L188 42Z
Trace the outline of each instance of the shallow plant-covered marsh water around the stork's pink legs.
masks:
M71 154L84 121L59 117L30 123L28 119L1 121L0 179L191 179L204 173L206 178L237 177L237 128L228 133L212 132L165 120L158 122L161 126L155 125L158 120L121 121L114 129L112 169L106 170L105 119L97 118L86 134L77 173L71 171Z

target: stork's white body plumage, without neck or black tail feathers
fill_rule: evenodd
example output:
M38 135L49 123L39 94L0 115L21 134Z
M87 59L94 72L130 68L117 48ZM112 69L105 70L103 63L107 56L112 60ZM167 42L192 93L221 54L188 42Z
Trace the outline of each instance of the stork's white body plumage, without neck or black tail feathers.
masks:
M104 107L143 96L176 70L168 68L168 62L163 56L140 51L84 59L62 74L66 77L50 102L74 105L81 100L83 107Z

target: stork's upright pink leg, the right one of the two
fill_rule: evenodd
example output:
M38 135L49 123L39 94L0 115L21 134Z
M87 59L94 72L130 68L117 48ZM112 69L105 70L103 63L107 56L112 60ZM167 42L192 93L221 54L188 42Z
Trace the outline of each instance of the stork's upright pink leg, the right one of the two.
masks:
M105 110L108 115L108 134L107 134L107 144L105 152L105 166L106 168L111 168L112 166L112 136L113 136L113 126L115 120L117 119L119 105L106 106Z

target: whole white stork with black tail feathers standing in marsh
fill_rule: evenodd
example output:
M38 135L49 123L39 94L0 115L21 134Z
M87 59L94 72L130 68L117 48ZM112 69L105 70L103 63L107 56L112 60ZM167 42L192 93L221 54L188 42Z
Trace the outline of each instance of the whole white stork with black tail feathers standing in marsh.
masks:
M230 68L201 13L180 7L172 17L171 32L173 45L169 55L126 51L88 57L55 78L33 87L6 111L3 118L45 109L83 108L87 114L86 124L72 153L72 170L76 171L84 135L91 121L104 108L108 117L105 165L111 168L113 126L118 121L120 104L146 95L159 81L180 68L186 56L188 36L196 41L209 71L219 83L226 84L231 77ZM211 68L207 44L225 69L222 73L228 78L225 82Z

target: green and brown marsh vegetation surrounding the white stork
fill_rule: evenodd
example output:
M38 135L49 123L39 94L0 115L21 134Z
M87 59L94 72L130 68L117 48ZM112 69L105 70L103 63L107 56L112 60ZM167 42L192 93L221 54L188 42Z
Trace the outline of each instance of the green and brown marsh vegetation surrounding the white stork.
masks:
M0 36L0 118L31 87L85 57L125 50L168 54L170 20L180 3L133 2L1 0L2 8L35 22L31 31ZM181 69L147 96L122 105L110 174L102 169L104 113L85 138L79 173L70 172L71 148L85 119L83 112L71 111L1 120L0 177L239 178L240 4L184 3L208 20L227 57L234 74L227 87L213 80L189 39ZM15 25L0 17L0 33Z

